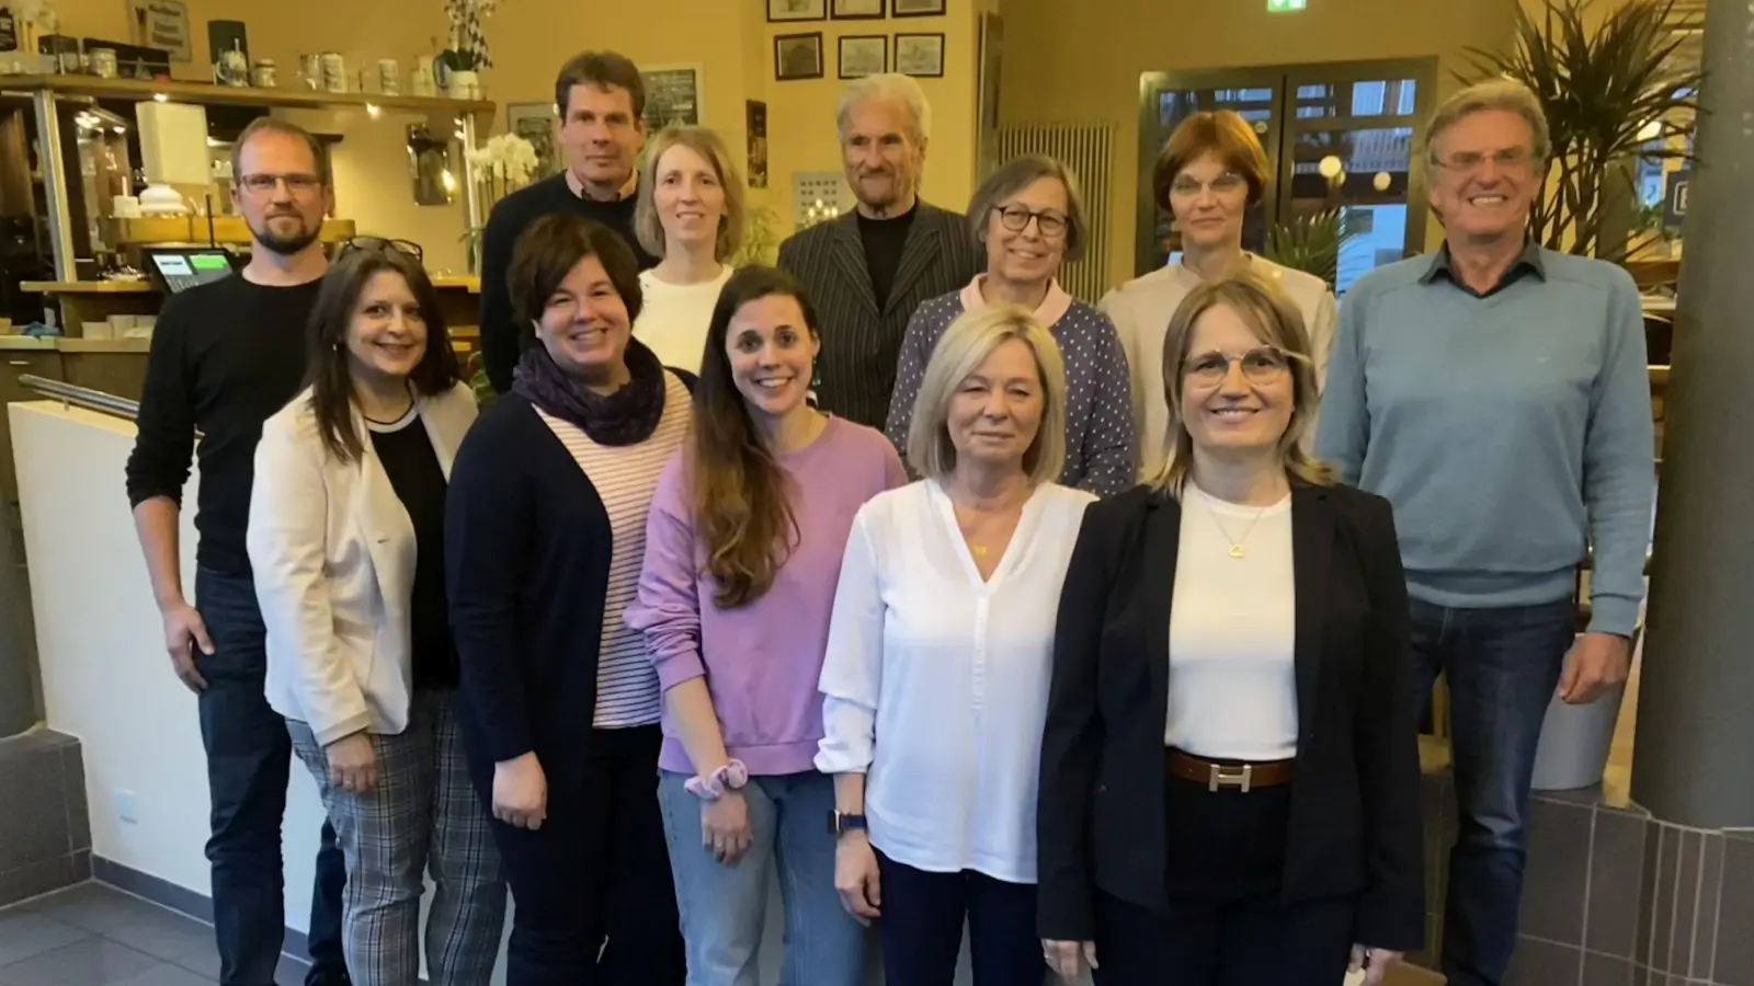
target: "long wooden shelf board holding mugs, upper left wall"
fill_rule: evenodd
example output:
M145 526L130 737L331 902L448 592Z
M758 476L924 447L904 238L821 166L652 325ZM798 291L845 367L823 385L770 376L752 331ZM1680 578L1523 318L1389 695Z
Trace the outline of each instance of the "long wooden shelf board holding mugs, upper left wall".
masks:
M137 79L98 79L93 75L0 75L0 91L51 89L67 96L93 100L151 100L163 95L170 102L207 105L251 105L286 109L353 109L367 105L412 114L472 114L477 123L493 121L491 100L447 100L431 96L386 96L382 93L319 93L312 89L256 89L249 86L214 86L207 82L142 82Z

